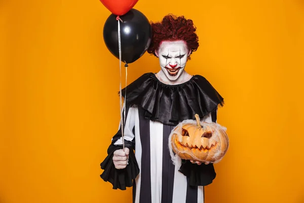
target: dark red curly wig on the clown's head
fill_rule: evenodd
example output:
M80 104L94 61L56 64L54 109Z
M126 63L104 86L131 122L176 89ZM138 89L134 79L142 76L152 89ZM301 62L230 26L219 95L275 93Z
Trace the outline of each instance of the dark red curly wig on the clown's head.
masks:
M147 50L150 54L156 56L155 51L159 49L162 41L184 41L191 53L199 47L196 27L191 19L185 19L184 16L176 17L170 14L165 16L161 22L151 22L151 27L153 36ZM190 55L188 59L190 59Z

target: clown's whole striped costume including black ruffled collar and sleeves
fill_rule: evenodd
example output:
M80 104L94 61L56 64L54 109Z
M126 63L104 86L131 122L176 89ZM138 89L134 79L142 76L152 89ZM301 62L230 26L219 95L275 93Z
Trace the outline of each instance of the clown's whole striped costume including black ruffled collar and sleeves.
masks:
M178 122L195 119L195 114L204 121L216 122L217 107L223 105L223 98L197 75L179 85L166 85L148 73L126 89L124 139L130 149L129 163L123 170L113 165L113 152L122 148L119 130L101 163L101 178L112 183L114 189L133 186L133 202L204 202L204 186L216 176L213 164L197 165L179 159L174 165L169 135Z

